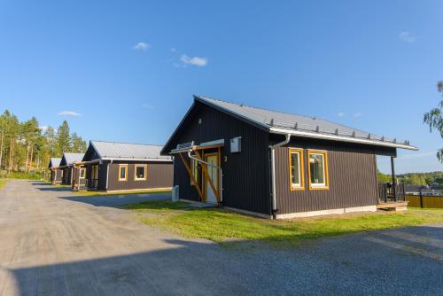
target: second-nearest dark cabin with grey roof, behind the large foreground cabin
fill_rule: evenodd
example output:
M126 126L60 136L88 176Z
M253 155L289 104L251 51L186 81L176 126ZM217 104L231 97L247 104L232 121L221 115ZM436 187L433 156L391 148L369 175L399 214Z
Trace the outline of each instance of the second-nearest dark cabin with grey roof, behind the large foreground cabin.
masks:
M173 160L162 146L90 141L82 161L74 164L74 190L170 190Z

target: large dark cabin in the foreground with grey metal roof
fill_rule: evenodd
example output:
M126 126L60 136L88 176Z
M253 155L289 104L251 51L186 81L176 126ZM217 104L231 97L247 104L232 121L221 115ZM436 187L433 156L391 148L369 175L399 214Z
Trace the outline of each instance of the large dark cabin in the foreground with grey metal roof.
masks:
M394 175L397 148L416 150L315 117L194 96L161 153L175 158L180 199L292 218L404 199L377 183L376 155L391 157Z

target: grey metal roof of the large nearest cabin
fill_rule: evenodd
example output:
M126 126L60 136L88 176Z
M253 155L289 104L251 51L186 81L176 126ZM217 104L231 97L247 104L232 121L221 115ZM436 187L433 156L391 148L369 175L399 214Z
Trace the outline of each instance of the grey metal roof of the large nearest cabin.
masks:
M360 129L352 129L342 124L325 121L321 118L270 111L243 104L229 103L211 97L194 96L194 98L206 105L212 105L251 121L264 129L268 129L269 132L280 131L281 133L288 132L299 136L330 138L338 141L380 144L416 150L416 147L411 146L408 141L377 136Z

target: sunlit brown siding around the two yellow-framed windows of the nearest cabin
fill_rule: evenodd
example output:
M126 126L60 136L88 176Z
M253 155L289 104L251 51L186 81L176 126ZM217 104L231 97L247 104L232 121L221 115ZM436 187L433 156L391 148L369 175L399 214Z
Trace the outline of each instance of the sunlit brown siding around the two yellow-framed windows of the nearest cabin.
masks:
M288 147L304 149L305 190L291 191ZM329 190L310 191L307 149L328 152ZM376 152L395 153L369 145L297 138L276 149L276 195L278 214L377 205Z

